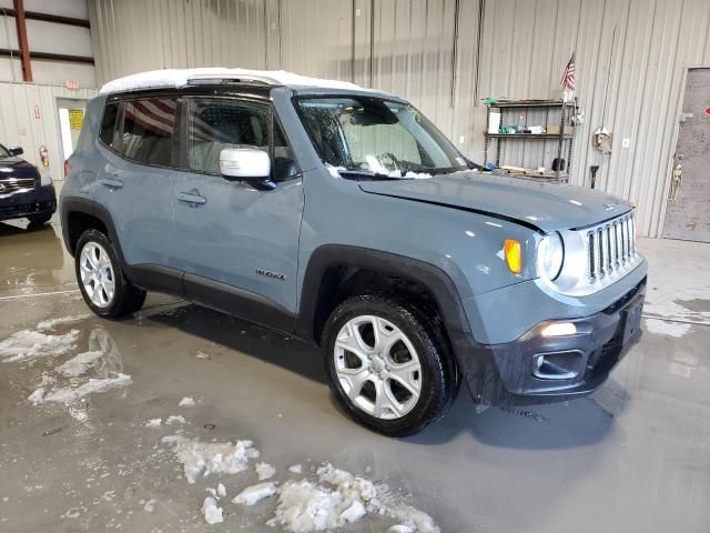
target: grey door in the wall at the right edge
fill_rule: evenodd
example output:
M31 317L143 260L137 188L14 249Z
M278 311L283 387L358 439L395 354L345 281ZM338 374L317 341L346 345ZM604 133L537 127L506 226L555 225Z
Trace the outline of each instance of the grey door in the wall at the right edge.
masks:
M690 69L663 237L710 242L710 68Z

